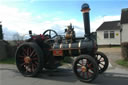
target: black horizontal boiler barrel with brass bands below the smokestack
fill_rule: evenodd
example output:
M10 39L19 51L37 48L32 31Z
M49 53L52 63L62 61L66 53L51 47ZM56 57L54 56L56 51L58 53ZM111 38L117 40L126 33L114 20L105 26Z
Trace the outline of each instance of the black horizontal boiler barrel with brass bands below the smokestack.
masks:
M80 40L76 43L56 43L53 45L53 50L62 50L63 56L78 56L91 53L93 45L91 40Z

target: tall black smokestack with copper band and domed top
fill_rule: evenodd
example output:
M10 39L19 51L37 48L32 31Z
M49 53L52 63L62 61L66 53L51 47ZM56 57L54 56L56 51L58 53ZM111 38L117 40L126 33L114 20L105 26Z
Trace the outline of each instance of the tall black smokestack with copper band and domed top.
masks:
M89 19L89 5L87 3L83 4L81 7L81 12L83 13L83 20L84 20L84 31L85 35L90 35L90 19Z

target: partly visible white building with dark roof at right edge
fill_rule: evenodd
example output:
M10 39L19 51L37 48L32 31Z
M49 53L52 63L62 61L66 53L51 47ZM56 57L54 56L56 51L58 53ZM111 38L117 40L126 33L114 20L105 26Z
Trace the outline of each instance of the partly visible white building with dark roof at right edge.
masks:
M122 9L121 12L121 42L128 42L128 8Z

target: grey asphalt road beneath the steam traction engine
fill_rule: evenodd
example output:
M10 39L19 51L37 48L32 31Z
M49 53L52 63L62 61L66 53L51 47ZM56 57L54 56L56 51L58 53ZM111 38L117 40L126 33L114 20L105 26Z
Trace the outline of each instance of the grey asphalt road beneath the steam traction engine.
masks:
M70 67L70 66L69 66ZM63 66L57 72L42 72L38 77L22 76L15 65L0 65L0 85L128 85L128 70L111 68L91 83L79 81L72 69Z

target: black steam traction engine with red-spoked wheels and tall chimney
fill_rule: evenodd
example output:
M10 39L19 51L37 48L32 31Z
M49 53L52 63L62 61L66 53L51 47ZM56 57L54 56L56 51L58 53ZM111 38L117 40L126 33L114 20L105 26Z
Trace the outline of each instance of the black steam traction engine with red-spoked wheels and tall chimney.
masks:
M72 25L65 29L65 36L54 30L46 30L42 35L32 35L16 51L16 65L24 76L36 76L43 69L56 69L65 57L77 58L73 63L75 75L84 82L94 80L108 67L105 54L97 52L97 43L90 33L89 5L82 5L84 37L75 37Z

